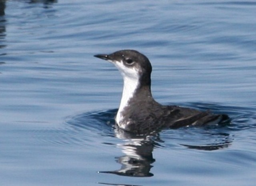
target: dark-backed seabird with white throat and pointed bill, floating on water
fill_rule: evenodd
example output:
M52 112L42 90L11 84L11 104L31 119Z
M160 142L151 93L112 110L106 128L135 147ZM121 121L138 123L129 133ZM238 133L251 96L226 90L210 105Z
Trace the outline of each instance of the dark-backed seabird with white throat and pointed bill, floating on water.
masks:
M97 54L96 58L114 64L123 77L122 98L115 122L119 128L144 135L163 129L184 126L218 124L228 119L226 114L212 114L181 106L162 105L152 96L149 59L136 50L119 50L111 54Z

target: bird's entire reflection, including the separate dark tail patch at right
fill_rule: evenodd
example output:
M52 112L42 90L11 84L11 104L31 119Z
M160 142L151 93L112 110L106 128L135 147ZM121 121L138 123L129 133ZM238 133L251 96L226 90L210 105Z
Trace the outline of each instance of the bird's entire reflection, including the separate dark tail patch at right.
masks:
M125 154L124 156L116 157L116 162L121 164L121 168L114 171L101 171L100 173L131 177L154 176L154 174L150 172L150 169L153 167L152 163L155 162L155 159L153 158L153 150L157 146L160 146L158 143L159 141L162 142L158 136L159 134L154 134L152 136L135 136L120 129L116 129L115 134L116 137L122 138L124 142L122 144L117 144ZM232 143L232 139L230 139L231 137L228 133L210 134L209 138L214 139L215 142L209 144L180 145L190 149L211 151L228 148ZM188 143L190 143L190 141L188 141Z

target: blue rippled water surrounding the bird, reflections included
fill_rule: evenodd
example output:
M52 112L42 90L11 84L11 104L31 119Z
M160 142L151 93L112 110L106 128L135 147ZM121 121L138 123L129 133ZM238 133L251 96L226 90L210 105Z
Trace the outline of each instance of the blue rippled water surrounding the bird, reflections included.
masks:
M0 0L1 185L254 186L255 18L255 1ZM158 102L232 122L113 128L122 78L93 55L128 48Z

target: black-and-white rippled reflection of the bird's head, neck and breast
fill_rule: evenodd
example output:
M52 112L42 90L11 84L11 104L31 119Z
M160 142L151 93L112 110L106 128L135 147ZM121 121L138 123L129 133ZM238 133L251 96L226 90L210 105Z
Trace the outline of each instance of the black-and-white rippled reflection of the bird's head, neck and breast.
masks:
M116 162L121 164L119 170L102 171L101 173L110 173L120 176L132 177L150 177L152 163L155 161L152 152L156 142L148 136L135 136L130 133L115 130L118 138L124 139L123 144L117 144L122 149L124 156L116 157Z

